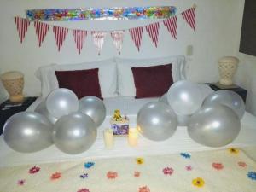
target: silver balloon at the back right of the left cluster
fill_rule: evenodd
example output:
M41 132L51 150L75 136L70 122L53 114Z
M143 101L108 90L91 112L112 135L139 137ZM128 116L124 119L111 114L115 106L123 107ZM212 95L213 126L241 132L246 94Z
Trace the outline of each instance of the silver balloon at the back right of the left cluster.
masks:
M79 100L79 112L87 114L96 124L102 125L106 117L106 108L102 100L96 96L85 96Z

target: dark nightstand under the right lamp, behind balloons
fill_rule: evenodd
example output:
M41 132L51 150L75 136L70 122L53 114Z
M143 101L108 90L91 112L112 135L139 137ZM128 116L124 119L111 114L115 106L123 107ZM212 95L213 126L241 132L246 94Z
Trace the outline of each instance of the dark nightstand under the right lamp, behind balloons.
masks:
M244 103L247 101L247 90L237 86L236 84L233 84L232 86L219 86L218 84L208 84L209 87L212 88L212 90L232 90L236 92L239 96L241 96Z

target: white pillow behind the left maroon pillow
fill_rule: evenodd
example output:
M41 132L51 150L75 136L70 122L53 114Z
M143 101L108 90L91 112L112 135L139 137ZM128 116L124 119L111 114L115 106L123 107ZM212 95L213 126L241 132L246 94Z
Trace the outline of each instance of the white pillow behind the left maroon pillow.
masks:
M113 59L77 64L51 64L48 66L39 67L38 71L36 72L36 76L41 81L42 96L46 97L50 91L59 88L55 71L73 71L91 68L99 68L98 74L102 97L117 96L117 68Z

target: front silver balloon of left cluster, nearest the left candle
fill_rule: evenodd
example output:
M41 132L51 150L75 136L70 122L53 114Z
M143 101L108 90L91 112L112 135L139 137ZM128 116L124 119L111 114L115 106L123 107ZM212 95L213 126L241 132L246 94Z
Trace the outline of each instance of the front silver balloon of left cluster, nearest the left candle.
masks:
M86 114L75 112L65 115L54 125L55 146L67 154L79 154L96 140L96 125Z

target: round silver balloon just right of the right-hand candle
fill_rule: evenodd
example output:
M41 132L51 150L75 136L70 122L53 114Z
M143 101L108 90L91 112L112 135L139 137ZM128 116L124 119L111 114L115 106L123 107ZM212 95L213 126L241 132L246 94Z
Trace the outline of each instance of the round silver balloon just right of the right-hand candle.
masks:
M149 102L137 114L137 125L144 137L163 141L177 129L177 115L164 102Z

